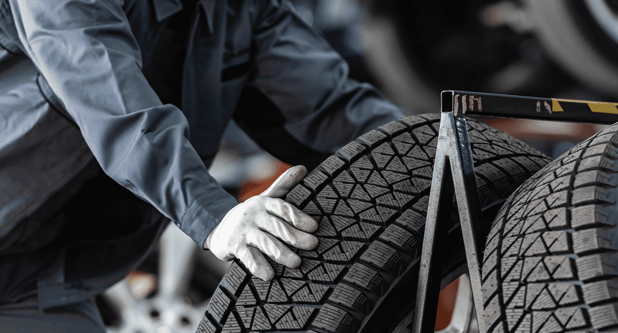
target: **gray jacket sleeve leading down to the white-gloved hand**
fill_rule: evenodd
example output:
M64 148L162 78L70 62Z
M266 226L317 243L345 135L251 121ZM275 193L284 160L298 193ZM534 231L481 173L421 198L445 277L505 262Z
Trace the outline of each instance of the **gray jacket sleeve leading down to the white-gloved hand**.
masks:
M193 240L237 202L188 141L184 114L162 105L119 0L9 0L23 47L112 179Z

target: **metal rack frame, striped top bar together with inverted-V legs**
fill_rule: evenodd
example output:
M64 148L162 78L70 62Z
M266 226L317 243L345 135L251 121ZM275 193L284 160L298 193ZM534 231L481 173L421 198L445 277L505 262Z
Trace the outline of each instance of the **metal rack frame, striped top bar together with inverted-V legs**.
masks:
M442 119L431 179L430 201L420 259L417 299L414 310L400 322L396 331L412 321L412 332L433 332L442 276L442 239L451 217L453 199L464 235L468 273L474 298L478 328L487 331L481 289L481 263L486 231L468 139L465 116L508 117L614 124L618 122L618 103L574 99L471 93L446 90L441 95Z

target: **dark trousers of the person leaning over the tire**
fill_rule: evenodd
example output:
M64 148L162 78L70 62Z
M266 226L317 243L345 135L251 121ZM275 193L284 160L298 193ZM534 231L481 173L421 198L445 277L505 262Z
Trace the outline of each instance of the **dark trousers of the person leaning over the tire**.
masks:
M106 332L93 296L135 269L166 222L93 160L0 237L0 333Z

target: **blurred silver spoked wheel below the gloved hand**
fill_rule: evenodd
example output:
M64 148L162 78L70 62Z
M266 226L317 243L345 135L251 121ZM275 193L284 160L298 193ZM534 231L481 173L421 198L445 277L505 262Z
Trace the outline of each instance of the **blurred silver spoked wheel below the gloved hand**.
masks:
M229 265L170 223L138 271L96 299L108 332L195 332Z

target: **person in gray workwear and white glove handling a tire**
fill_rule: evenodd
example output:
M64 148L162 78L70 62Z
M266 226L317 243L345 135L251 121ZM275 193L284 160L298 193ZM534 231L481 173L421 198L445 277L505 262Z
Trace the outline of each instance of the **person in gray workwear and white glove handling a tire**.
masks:
M263 254L297 267L283 243L315 247L317 224L280 198L305 167L240 204L206 167L232 118L315 167L404 116L348 70L287 1L0 0L0 332L104 332L91 297L160 214L261 279Z

